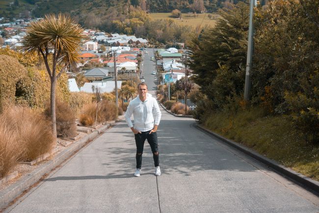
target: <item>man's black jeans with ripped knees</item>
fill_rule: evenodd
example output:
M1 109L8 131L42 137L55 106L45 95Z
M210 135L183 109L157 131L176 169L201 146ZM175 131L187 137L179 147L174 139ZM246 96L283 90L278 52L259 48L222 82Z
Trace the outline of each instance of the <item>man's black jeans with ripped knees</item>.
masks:
M135 144L136 144L136 168L140 169L142 167L142 153L144 149L144 143L147 139L147 142L150 144L152 152L153 152L153 159L154 159L154 166L157 167L160 165L160 153L159 153L159 145L157 140L157 133L150 131L141 132L135 134ZM158 154L155 154L155 153Z

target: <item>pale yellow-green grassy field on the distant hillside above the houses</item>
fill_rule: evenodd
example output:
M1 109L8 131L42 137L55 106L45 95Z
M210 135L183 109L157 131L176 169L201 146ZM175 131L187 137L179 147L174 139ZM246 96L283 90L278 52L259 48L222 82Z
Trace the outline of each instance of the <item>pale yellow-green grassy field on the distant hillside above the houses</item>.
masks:
M175 22L181 24L181 25L189 25L192 27L197 27L197 26L201 26L204 27L206 25L209 26L215 26L217 19L220 17L217 14L211 14L213 16L212 19L208 18L208 13L202 13L202 14L197 14L197 17L193 17L193 14L187 14L187 13L183 13L182 14L182 19L176 19L176 18L172 18L171 13L151 13L150 16L153 19L172 19Z

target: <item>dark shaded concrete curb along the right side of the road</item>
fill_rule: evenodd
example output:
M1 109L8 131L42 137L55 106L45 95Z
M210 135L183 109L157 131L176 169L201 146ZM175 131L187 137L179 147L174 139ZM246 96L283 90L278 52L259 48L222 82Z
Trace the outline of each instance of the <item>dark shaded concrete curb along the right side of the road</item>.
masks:
M226 144L238 149L240 152L243 152L243 153L249 155L250 157L258 160L259 162L265 164L267 167L273 169L277 173L286 176L287 178L292 180L294 183L297 183L298 185L302 186L306 190L308 190L312 193L315 193L317 196L319 195L319 182L314 181L311 178L308 178L308 177L306 177L302 174L299 174L295 171L292 171L291 169L289 169L283 165L278 164L276 161L271 160L271 159L255 152L255 151L252 151L243 145L240 145L240 144L238 144L234 141L231 141L227 138L224 138L223 136L218 135L218 134L204 128L203 126L199 125L198 123L194 123L194 125L198 129L213 135L215 138L219 139L220 141L225 142Z

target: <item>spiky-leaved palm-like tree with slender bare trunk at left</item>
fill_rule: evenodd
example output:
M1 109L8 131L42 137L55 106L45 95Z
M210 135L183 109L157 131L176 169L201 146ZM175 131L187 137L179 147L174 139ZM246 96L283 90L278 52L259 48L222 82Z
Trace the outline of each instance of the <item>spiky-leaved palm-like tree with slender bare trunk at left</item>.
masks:
M57 79L79 61L78 50L83 29L69 16L54 14L33 22L27 27L23 51L42 57L51 80L50 107L52 131L56 137L55 89ZM57 70L58 69L58 70Z

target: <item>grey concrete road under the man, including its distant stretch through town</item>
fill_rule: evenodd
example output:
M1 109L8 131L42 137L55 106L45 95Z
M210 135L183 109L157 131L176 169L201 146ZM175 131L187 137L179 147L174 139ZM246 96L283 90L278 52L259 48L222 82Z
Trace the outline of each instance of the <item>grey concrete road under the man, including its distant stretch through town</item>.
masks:
M143 75L154 95L153 49ZM319 213L319 197L162 110L162 175L145 143L135 170L134 135L119 122L80 150L7 212L11 213Z

